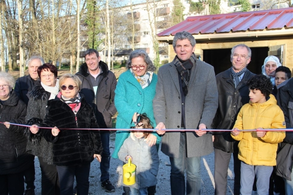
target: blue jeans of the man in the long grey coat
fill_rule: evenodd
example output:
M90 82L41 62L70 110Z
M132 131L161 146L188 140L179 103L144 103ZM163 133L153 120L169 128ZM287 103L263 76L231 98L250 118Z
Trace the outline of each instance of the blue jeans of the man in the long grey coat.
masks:
M196 150L196 149L195 149ZM171 194L185 195L185 170L187 173L186 194L200 195L201 176L200 176L200 156L186 157L186 133L180 133L178 158L169 157L171 163Z

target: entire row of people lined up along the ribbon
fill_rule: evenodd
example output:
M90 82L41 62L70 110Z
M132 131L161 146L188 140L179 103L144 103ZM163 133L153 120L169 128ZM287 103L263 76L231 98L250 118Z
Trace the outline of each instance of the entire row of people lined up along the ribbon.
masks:
M158 75L145 51L133 51L118 83L94 49L76 75L58 79L56 67L40 57L28 60L29 75L14 90L13 77L0 73L0 195L22 195L24 182L25 195L34 195L35 156L42 195L87 195L94 158L101 162L101 186L114 192L109 131L98 129L111 128L116 112L121 130L112 157L137 166L136 183L124 185L124 195L156 193L160 143L171 164L172 195L200 194L201 156L213 151L215 195L227 193L231 154L235 195L251 195L254 178L258 195L282 190L278 176L286 195L293 194L293 139L284 131L293 126L290 69L269 56L262 75L254 75L247 69L251 49L239 44L231 49L231 68L215 76L196 59L195 44L190 33L177 33L176 56Z

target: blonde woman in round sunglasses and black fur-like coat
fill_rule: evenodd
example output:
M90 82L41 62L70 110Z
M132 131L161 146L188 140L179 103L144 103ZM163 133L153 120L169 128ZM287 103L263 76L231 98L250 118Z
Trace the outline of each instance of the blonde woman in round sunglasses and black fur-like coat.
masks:
M61 195L88 195L90 163L101 162L103 152L100 132L92 107L78 91L81 80L71 74L59 78L60 93L47 103L42 135L53 143L53 163L57 167ZM53 128L54 127L54 128Z

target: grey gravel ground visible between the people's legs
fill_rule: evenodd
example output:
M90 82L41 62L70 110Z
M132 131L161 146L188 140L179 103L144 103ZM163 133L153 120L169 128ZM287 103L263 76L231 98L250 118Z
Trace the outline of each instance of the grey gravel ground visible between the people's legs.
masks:
M110 151L114 150L114 139L115 133L110 134ZM157 184L157 195L170 195L170 161L168 156L164 155L159 151L160 167L158 173L158 184ZM107 193L101 187L100 182L100 163L94 160L91 163L91 171L89 176L89 195L122 195L123 188L122 182L122 161L119 159L111 158L110 162L110 181L115 186L116 191L113 193ZM35 180L35 193L41 195L41 169L39 166L38 157L35 158L36 167L36 180ZM228 173L228 186L227 195L233 195L233 182L234 176L231 170L233 167L233 161L230 161L229 173ZM214 194L214 153L203 156L201 159L201 194L202 195L213 195Z

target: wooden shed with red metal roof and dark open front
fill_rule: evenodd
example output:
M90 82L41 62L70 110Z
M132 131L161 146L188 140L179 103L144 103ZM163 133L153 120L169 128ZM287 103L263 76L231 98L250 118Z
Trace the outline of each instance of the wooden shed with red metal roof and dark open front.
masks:
M174 35L181 31L193 35L194 53L213 65L216 74L231 66L230 50L240 43L251 48L251 72L260 74L267 56L278 57L293 71L293 7L188 17L157 35L159 41L168 42L169 61L176 55Z

